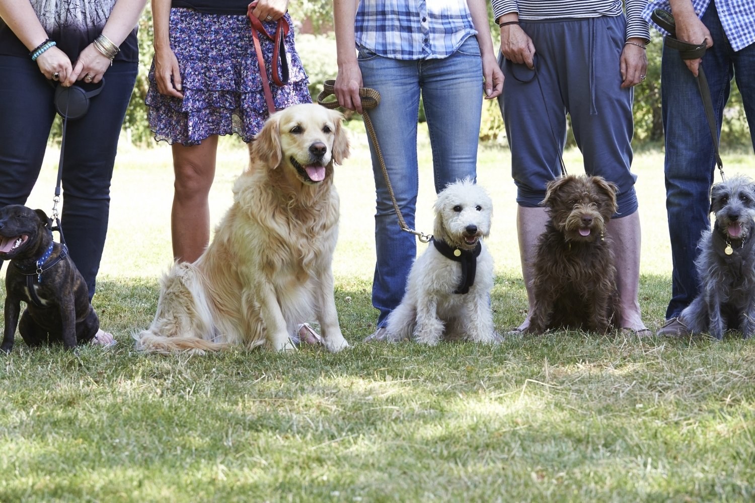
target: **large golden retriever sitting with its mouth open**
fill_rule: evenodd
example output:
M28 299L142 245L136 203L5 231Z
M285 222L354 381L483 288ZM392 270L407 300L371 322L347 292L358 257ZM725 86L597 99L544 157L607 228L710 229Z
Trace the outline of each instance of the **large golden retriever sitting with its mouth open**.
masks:
M138 349L293 349L289 335L314 317L328 351L348 347L331 270L339 215L333 164L349 155L342 119L316 104L270 116L207 250L162 278L155 320L134 335Z

